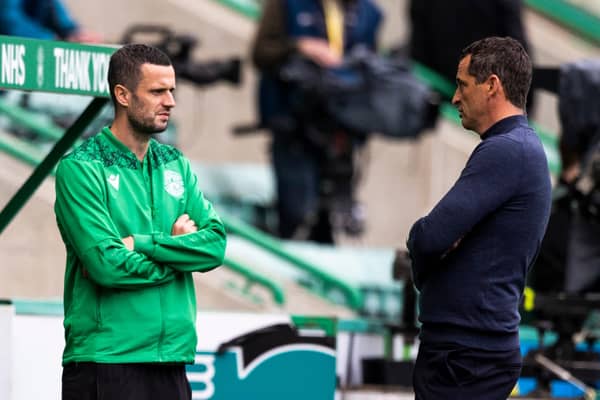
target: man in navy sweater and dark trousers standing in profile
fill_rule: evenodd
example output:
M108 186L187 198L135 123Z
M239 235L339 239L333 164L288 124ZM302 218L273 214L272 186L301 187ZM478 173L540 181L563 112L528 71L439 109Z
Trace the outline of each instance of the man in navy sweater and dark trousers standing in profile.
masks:
M416 400L505 400L521 370L519 304L550 213L550 173L527 124L531 61L514 39L466 47L452 103L481 142L407 242L420 292Z

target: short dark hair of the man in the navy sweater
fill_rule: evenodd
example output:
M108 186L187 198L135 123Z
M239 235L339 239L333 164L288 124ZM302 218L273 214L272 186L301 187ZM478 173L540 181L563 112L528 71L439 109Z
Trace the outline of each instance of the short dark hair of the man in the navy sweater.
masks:
M496 74L502 82L508 101L525 109L531 85L532 64L521 43L510 37L488 37L465 47L460 59L468 55L471 55L469 74L475 77L477 83Z

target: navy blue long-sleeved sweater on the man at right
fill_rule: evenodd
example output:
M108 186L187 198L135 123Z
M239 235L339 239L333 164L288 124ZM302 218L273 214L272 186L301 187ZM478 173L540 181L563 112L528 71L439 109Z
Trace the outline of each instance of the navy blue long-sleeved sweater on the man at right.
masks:
M410 230L421 340L516 349L526 274L550 215L550 173L524 116L481 138L458 181Z

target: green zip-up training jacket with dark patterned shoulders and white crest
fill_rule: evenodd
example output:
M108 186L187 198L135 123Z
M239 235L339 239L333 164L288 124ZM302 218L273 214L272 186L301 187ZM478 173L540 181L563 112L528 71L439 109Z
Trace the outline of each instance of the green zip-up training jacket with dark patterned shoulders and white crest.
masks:
M140 162L106 127L60 161L54 210L67 251L63 364L192 363L191 273L221 265L226 239L189 160L152 139ZM198 232L171 236L184 213Z

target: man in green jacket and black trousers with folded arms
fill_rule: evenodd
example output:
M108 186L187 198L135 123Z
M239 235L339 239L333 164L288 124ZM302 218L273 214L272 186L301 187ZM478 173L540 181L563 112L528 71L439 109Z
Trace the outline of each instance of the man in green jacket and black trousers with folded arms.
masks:
M63 400L190 399L192 272L221 265L225 230L190 162L151 138L175 107L168 56L127 45L110 60L110 127L60 162L67 251Z

